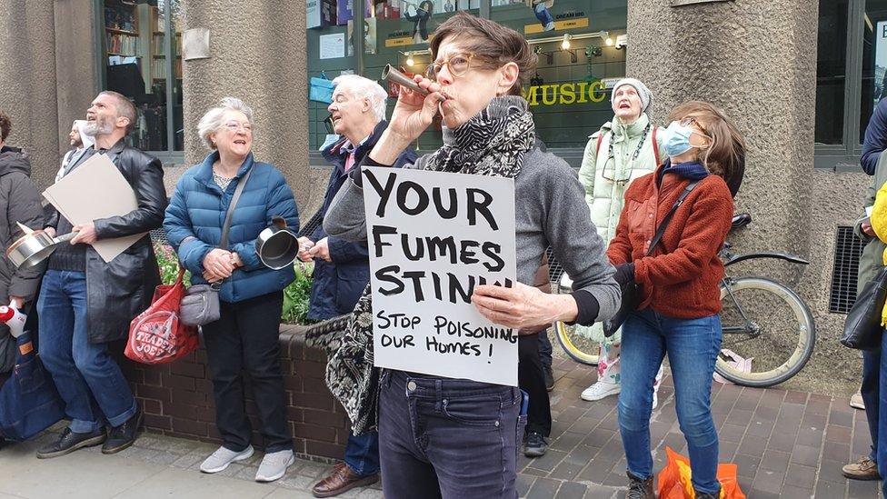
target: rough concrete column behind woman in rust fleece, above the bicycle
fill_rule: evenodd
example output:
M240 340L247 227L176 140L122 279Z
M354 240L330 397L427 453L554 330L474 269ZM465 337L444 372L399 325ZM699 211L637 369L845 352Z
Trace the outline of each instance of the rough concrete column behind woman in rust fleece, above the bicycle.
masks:
M748 144L736 210L754 222L731 239L743 251L807 254L818 2L670 4L628 0L627 75L650 85L660 123L691 99L733 117Z

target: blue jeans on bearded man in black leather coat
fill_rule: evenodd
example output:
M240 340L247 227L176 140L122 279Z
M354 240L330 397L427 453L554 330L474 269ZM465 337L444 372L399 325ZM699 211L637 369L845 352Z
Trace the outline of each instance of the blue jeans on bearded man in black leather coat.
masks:
M89 343L86 310L86 274L46 271L37 300L40 357L78 434L105 421L119 426L135 414L135 397L107 344Z

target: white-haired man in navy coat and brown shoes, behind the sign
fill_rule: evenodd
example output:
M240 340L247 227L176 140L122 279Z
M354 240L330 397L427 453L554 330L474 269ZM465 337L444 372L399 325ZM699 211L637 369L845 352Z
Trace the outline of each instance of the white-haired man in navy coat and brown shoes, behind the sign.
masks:
M350 314L354 304L370 279L369 254L366 241L352 243L324 233L324 215L339 188L348 179L354 165L360 165L364 155L382 135L385 121L387 93L374 81L358 75L342 75L333 80L333 103L329 112L334 132L342 138L324 148L324 159L333 165L324 205L306 225L317 228L299 239L299 259L314 260L314 282L308 319L323 321ZM411 164L416 155L412 148L401 153L395 166ZM314 485L316 497L332 497L354 487L374 484L379 480L378 434L348 435L344 463Z

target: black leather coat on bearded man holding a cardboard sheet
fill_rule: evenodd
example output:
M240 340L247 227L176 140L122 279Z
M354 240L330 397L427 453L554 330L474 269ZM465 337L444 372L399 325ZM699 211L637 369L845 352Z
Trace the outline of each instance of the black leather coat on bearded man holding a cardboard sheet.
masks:
M108 150L108 156L133 186L138 208L126 215L95 220L99 239L146 233L164 223L166 188L160 160L123 140ZM56 213L47 226L57 227ZM141 314L160 284L160 268L151 236L135 242L109 264L92 246L86 248L86 320L89 342L105 343L124 338L129 323Z

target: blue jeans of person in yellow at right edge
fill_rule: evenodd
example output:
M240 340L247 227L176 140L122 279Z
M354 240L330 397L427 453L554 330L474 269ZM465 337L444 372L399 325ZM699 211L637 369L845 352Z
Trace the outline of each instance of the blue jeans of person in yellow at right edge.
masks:
M887 411L881 410L887 404L887 356L882 355L887 348L887 334L881 336L881 350L862 352L862 401L865 402L865 417L872 435L870 458L878 464L878 473L887 476ZM887 494L887 481L881 483L882 493Z

